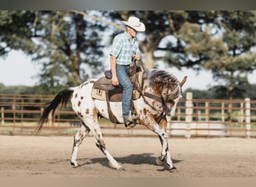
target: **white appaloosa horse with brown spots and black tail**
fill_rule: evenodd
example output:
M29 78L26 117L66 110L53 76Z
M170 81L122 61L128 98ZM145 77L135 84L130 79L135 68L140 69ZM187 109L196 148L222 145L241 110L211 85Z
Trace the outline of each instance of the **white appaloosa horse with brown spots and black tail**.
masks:
M186 82L184 77L182 82L165 70L147 70L143 73L141 84L141 96L132 100L136 114L138 114L139 123L146 126L147 129L155 132L159 136L162 144L161 156L156 158L156 164L162 165L166 158L168 170L174 169L171 161L171 154L168 150L168 134L166 132L166 115L174 115L177 102L182 97L182 86ZM61 103L66 105L71 97L73 111L82 120L81 129L74 136L73 152L70 163L73 167L78 167L76 161L79 145L88 132L94 135L96 145L109 159L112 167L117 170L124 170L122 166L112 157L106 149L103 141L103 135L98 123L98 117L109 119L108 105L106 101L95 99L91 96L95 80L79 85L74 88L67 88L59 92L52 102L49 102L43 110L43 114L38 121L37 132L43 128L43 123L48 122L49 113L52 111L52 120L54 119L55 109ZM109 102L109 107L115 118L123 123L121 102Z

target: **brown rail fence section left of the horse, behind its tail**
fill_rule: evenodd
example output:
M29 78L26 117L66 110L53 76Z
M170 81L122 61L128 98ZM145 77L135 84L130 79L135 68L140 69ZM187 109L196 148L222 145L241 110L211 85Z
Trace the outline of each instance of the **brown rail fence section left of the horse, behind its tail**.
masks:
M43 112L51 95L18 95L0 94L0 134L32 135L37 128L37 120ZM51 116L51 115L50 115ZM73 126L79 125L79 119L73 112L70 103L65 108L58 108L55 112L55 123L46 124L47 135L68 134Z

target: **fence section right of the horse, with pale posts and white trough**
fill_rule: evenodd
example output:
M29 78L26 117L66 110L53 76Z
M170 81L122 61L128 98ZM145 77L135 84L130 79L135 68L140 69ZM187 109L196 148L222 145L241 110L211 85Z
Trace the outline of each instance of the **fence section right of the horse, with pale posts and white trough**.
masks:
M177 106L177 115L169 120L170 135L256 137L256 101L246 99L186 99Z

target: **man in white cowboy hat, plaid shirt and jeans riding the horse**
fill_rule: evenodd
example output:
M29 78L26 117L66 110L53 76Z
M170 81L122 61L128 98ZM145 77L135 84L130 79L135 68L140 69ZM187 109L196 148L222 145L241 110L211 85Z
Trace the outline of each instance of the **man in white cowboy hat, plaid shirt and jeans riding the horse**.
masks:
M123 21L127 25L124 33L115 36L110 51L110 65L112 71L112 85L123 87L122 111L124 125L127 127L134 123L129 117L129 109L132 100L132 83L128 76L129 65L132 59L141 60L141 52L138 47L136 34L138 31L145 31L145 25L135 16L129 16L128 21Z

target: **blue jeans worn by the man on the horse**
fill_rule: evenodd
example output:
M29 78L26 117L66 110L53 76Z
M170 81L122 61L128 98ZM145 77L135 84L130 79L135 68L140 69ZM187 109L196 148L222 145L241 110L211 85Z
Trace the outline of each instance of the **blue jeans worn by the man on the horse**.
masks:
M124 120L129 116L133 91L133 86L128 76L128 70L129 66L117 65L118 81L123 87L122 108Z

